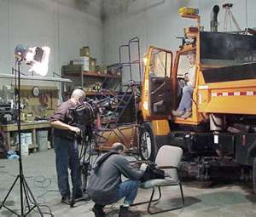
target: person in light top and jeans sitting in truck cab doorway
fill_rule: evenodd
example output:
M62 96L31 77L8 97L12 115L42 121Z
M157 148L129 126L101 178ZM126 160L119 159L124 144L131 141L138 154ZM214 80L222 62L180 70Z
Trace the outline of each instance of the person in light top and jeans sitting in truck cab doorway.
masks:
M183 87L183 96L179 102L177 110L172 111L173 116L183 117L184 119L192 115L192 94L195 88L195 51L189 51L186 55L189 61L189 70L184 75L184 80L186 82Z

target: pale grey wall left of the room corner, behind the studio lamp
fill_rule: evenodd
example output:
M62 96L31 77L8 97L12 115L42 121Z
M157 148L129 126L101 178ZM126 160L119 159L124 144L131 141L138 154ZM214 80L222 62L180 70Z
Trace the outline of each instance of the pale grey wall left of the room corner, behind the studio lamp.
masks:
M0 20L0 73L11 73L17 44L50 47L49 77L83 45L102 62L101 0L0 0Z

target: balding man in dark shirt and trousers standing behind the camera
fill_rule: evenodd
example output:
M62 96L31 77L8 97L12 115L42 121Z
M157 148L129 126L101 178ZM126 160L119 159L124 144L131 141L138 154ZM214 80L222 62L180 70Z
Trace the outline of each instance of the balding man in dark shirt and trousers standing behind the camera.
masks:
M68 168L71 170L73 193L75 198L83 196L82 180L79 163L78 142L75 137L68 134L80 134L80 129L73 127L69 110L84 101L84 91L73 90L71 98L57 107L50 124L53 127L53 143L55 148L55 163L59 191L61 192L61 203L70 204L70 188L68 183Z

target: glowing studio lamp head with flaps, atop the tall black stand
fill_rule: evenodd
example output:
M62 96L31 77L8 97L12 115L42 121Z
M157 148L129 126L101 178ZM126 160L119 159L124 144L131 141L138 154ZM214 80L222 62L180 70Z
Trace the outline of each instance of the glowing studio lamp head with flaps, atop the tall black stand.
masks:
M34 71L41 76L46 76L49 63L49 47L28 48L18 44L15 48L15 58L17 61L26 61L30 66L29 71Z

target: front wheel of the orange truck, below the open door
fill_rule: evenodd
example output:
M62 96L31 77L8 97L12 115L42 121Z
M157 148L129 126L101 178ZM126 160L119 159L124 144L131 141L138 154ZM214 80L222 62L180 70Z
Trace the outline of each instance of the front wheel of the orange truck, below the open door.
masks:
M150 124L143 123L140 128L139 136L139 153L143 160L154 161L155 157L155 143L154 143L154 134Z

